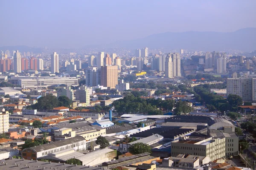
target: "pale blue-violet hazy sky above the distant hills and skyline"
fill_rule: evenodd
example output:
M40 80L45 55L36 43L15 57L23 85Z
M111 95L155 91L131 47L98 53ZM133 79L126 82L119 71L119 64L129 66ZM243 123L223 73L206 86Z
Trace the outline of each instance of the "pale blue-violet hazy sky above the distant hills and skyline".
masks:
M256 27L256 0L0 0L0 46L80 48L166 31Z

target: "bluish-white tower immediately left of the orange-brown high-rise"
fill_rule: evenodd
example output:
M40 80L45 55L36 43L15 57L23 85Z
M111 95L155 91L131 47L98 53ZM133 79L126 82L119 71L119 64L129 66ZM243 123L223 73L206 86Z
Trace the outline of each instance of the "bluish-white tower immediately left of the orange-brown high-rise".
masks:
M90 67L85 70L86 85L88 87L95 87L100 85L100 74L97 67Z

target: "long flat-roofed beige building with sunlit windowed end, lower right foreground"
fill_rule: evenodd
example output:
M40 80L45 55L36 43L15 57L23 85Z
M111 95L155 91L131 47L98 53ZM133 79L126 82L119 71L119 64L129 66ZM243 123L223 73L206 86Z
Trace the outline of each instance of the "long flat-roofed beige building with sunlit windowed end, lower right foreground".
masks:
M225 138L204 138L187 137L185 140L172 142L172 156L179 154L189 154L196 156L208 156L210 161L225 158L226 140Z

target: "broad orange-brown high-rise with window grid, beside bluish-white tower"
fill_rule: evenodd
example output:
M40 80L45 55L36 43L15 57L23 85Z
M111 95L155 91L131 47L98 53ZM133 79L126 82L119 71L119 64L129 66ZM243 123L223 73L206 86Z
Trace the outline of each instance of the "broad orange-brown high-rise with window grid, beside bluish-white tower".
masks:
M101 67L101 85L116 88L118 84L118 66L107 65Z

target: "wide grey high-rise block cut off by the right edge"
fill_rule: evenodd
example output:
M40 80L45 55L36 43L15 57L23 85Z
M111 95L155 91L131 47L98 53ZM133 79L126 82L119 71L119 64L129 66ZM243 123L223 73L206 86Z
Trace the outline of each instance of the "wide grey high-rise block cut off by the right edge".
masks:
M243 101L256 101L256 78L228 78L227 96L236 94Z

